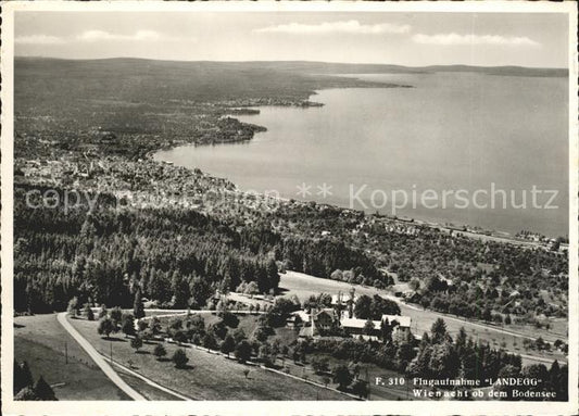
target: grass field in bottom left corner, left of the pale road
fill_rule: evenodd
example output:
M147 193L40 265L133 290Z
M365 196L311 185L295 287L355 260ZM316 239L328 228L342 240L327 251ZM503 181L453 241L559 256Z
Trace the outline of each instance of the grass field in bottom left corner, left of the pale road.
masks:
M129 400L61 327L55 314L20 316L14 323L15 358L28 363L35 380L41 375L53 386L59 400Z

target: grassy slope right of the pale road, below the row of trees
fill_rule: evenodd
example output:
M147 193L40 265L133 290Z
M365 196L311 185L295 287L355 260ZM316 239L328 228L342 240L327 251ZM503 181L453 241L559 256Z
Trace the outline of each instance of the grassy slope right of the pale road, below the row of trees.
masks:
M73 326L95 348L127 365L144 377L194 400L344 400L347 396L312 385L193 348L185 348L189 357L186 369L177 369L169 361L159 362L152 355L154 344L144 344L135 353L123 335L105 340L97 333L97 323L71 319ZM167 356L178 346L165 343ZM246 378L243 369L249 368Z

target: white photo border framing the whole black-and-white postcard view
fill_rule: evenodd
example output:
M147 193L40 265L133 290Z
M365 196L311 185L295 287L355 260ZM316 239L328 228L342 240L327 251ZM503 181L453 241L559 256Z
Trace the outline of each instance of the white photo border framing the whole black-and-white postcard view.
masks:
M569 401L568 402L309 402L309 401L202 401L202 402L15 402L13 366L13 61L14 13L18 11L75 12L478 12L562 13L569 28ZM2 413L5 415L574 415L578 404L578 122L577 122L577 4L569 2L164 2L164 1L7 1L2 3L2 114L1 114L1 278L2 278Z

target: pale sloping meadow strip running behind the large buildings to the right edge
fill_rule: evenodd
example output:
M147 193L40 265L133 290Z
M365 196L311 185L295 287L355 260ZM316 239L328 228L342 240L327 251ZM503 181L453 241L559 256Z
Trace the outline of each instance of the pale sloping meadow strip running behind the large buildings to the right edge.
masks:
M539 357L544 357L549 360L558 360L561 362L567 362L567 358L561 352L557 353L546 353L538 351L525 351L523 348L523 340L526 337L537 338L539 336L543 339L553 342L557 338L566 340L564 336L557 336L556 333L549 332L546 330L540 330L531 327L526 327L521 330L520 327L514 327L513 329L505 327L494 327L489 325L482 325L475 322L466 320L465 318L458 318L456 316L445 315L433 311L425 311L420 306L405 304L399 299L392 297L386 290L379 290L376 288L364 287L361 285L350 285L342 281L329 280L316 278L309 276L302 273L297 272L287 272L286 274L280 275L281 280L279 287L284 290L284 295L293 295L295 294L301 301L305 300L311 294L318 294L320 292L336 294L339 291L348 294L352 287L355 288L356 294L380 294L385 298L389 298L399 302L399 306L402 315L412 317L412 331L415 335L421 336L425 331L430 331L432 323L441 317L446 323L446 329L451 336L456 336L461 329L464 327L468 336L473 337L476 340L482 340L489 342L495 348L503 346L505 350L518 353L518 354L528 354ZM557 323L557 327L561 330L561 323ZM507 331L517 331L516 335L507 333ZM532 362L531 358L526 358L527 362Z

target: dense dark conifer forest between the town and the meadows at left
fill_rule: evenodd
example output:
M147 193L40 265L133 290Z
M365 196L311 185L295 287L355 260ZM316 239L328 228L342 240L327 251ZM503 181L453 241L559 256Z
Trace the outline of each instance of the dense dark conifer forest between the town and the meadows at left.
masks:
M128 307L137 288L161 307L201 308L241 283L275 293L278 264L328 278L337 268L381 277L362 252L337 241L282 238L260 226L238 229L193 210L119 210L108 194L90 212L86 204L68 212L30 207L30 189L14 191L16 312L64 311L75 297Z

